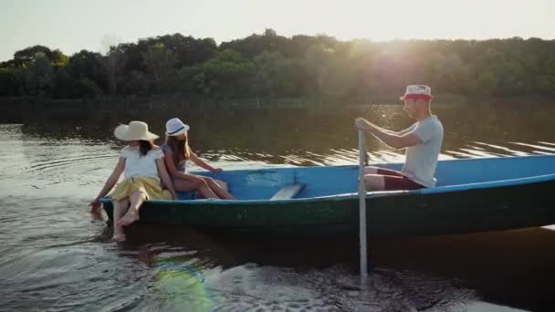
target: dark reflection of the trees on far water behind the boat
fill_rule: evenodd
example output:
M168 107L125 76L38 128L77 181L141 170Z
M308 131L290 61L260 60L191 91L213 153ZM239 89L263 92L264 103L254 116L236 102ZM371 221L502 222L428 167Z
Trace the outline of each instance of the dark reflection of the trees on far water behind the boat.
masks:
M552 141L550 116L555 109L477 105L472 109L437 106L434 112L445 127L444 151L457 151L474 141L501 144ZM49 140L97 140L120 145L112 134L119 123L144 120L154 133L163 137L166 120L179 117L191 126L189 134L194 150L206 152L212 160L230 154L245 160L281 163L280 156L284 155L319 161L319 157L331 157L338 150L355 151L358 137L353 120L358 116L391 130L403 130L412 122L401 105L351 109L161 110L137 111L131 116L93 111L87 116L63 112L37 114L22 130L26 135ZM372 136L367 138L368 151L389 150ZM352 157L356 155L348 156Z

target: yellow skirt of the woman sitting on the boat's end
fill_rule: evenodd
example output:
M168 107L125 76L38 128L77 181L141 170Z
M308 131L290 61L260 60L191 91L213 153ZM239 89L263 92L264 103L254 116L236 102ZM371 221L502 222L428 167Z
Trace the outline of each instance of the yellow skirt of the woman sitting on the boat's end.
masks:
M158 180L151 177L133 177L125 179L116 185L110 198L114 202L131 196L133 192L142 192L146 195L147 200L171 200L172 193L168 190L162 190L162 186Z

